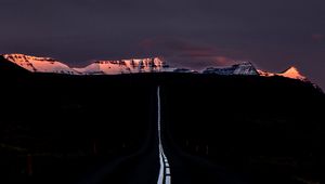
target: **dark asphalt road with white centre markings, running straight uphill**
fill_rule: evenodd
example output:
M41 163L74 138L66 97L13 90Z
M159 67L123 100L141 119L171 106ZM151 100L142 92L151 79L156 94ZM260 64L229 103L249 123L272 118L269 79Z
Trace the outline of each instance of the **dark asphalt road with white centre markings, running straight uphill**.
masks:
M160 87L153 104L155 114L146 142L138 153L109 162L103 162L84 175L79 184L237 184L245 183L239 175L207 160L182 152L164 129L160 106Z

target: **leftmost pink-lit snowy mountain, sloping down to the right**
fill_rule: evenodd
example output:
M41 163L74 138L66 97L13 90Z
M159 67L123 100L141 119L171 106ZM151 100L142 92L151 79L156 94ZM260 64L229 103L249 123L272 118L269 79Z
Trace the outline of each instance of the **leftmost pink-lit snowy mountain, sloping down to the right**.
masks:
M4 54L5 60L32 73L57 73L76 75L77 71L51 57L37 57L25 54Z

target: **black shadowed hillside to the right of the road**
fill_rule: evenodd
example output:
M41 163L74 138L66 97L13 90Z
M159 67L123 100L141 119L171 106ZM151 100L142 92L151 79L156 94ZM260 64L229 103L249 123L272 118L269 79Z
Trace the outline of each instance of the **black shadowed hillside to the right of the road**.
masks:
M312 84L202 75L162 89L170 144L182 152L251 183L324 182L325 101Z

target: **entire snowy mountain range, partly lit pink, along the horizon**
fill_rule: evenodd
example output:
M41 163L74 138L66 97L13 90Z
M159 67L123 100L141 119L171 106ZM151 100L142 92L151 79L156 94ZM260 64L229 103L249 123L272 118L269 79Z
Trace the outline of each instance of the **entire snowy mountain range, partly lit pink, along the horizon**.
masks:
M83 68L72 68L68 65L50 57L38 57L25 54L3 54L3 58L12 62L31 73L55 73L65 75L120 75L138 73L195 73L216 75L247 75L285 78L308 81L296 67L290 67L283 73L269 73L257 69L251 63L243 62L227 67L209 67L203 71L186 68L174 68L166 64L162 58L130 58L119 61L96 61Z

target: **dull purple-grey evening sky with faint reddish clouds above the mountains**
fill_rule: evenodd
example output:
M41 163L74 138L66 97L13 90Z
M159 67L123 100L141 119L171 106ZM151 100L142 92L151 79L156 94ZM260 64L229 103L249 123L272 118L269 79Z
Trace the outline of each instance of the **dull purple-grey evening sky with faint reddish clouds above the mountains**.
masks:
M325 88L324 0L0 0L0 53L297 66Z

